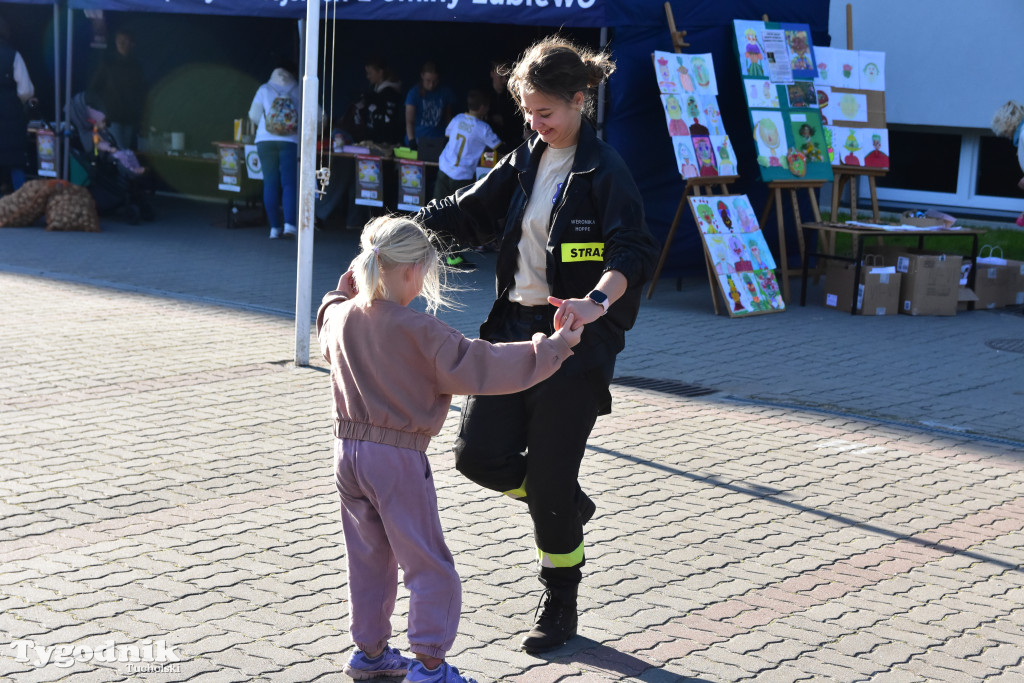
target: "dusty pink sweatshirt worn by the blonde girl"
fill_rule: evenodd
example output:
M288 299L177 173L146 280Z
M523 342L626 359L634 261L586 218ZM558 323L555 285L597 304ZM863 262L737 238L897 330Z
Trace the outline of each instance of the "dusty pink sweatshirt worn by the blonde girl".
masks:
M408 306L360 306L337 291L324 296L316 333L331 364L335 436L416 451L441 430L453 394L522 391L572 355L561 338L466 339Z

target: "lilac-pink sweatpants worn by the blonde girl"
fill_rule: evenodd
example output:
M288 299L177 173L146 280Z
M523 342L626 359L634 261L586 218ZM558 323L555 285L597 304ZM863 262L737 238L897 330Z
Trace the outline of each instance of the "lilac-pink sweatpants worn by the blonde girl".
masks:
M459 630L462 584L444 543L426 454L335 439L334 466L355 646L376 652L391 637L400 565L410 592L410 649L443 658Z

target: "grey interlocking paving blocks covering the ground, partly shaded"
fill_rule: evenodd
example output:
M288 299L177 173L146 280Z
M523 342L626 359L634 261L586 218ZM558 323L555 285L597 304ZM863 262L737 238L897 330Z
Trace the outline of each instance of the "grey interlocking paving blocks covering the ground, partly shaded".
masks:
M160 208L0 229L0 679L347 680L294 246ZM353 243L317 236L314 299ZM467 333L481 270L444 314ZM1024 680L1024 355L996 350L1024 348L1024 316L728 319L707 283L673 284L591 441L582 637L550 655L515 649L539 598L527 518L454 471L453 408L430 450L465 586L453 663L481 683ZM111 641L173 656L90 656Z

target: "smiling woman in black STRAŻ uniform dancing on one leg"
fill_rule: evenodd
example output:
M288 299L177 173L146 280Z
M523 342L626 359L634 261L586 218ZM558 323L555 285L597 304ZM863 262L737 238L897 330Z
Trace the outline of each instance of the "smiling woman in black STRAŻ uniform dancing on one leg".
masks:
M522 640L527 652L554 649L577 633L584 525L596 509L580 486L580 466L597 417L611 411L615 355L658 255L629 168L587 118L612 71L606 54L557 36L529 47L509 86L532 137L485 177L418 214L462 243L500 239L498 298L482 339L527 340L569 315L587 326L573 356L548 380L470 396L455 447L460 472L528 506L545 593Z

